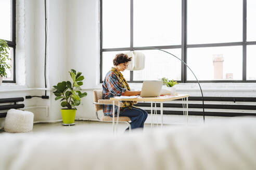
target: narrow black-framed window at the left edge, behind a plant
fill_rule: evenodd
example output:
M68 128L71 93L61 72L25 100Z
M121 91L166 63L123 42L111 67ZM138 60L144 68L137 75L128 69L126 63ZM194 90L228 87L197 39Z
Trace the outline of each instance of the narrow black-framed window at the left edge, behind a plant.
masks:
M16 5L15 0L0 0L0 39L7 41L10 48L11 68L7 70L7 78L3 82L16 82L15 80L15 48L16 48Z

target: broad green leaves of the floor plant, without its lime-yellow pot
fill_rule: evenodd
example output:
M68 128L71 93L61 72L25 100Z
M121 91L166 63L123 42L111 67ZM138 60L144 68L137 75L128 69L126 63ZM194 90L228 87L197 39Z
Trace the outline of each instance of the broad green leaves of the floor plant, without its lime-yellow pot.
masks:
M53 86L56 91L54 92L55 100L60 100L62 107L67 107L68 109L73 109L75 106L79 106L81 98L87 95L86 92L81 92L81 87L83 85L84 76L81 72L76 73L74 69L69 72L72 78L72 83L70 81L62 81ZM76 109L76 108L75 108Z

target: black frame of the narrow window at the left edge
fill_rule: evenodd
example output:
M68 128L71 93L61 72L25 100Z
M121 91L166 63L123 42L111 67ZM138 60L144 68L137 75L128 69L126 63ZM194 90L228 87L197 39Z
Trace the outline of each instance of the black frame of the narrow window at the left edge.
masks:
M3 83L16 83L16 62L15 62L15 56L16 56L16 0L11 0L11 41L6 40L9 47L13 48L13 64L12 70L13 70L13 79L12 80L3 80Z

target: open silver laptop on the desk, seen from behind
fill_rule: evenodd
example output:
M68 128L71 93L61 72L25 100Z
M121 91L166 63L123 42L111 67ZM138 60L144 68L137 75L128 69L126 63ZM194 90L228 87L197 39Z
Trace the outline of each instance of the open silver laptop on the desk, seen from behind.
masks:
M162 86L163 86L163 81L158 81L158 80L143 81L142 92L140 92L140 97L159 96Z

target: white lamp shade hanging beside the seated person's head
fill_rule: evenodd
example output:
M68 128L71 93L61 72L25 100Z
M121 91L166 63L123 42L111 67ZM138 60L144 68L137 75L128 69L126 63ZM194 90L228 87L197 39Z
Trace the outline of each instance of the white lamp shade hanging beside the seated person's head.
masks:
M142 70L145 68L145 54L135 51L129 51L126 54L132 57L132 61L129 62L127 70Z

